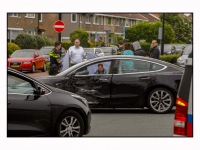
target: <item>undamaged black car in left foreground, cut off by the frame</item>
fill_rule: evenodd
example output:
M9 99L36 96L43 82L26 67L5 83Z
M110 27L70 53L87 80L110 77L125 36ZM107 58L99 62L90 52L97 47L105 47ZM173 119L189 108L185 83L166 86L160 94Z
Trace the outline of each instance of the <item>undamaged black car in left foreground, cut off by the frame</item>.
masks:
M90 122L85 98L8 68L8 137L82 136Z

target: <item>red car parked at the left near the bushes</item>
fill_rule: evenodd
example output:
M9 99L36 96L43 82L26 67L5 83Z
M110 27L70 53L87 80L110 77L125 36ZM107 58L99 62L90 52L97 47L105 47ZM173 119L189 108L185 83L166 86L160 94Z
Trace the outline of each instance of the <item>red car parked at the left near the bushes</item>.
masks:
M36 69L46 71L45 56L40 50L22 49L16 50L8 58L8 67L19 71L35 72Z

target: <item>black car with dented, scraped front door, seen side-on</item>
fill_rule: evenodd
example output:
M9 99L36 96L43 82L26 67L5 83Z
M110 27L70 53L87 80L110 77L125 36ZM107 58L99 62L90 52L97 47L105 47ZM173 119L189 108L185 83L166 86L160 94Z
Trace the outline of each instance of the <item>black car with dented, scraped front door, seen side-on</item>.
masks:
M99 63L107 74L95 74ZM38 80L85 97L90 108L148 107L166 113L175 105L183 71L153 58L115 55L90 59Z

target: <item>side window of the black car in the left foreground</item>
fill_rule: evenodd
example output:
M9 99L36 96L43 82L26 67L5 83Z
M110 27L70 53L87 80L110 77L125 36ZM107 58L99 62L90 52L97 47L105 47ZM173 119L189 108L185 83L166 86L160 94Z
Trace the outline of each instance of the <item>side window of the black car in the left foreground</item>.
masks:
M8 74L8 93L36 94L37 90L31 82Z

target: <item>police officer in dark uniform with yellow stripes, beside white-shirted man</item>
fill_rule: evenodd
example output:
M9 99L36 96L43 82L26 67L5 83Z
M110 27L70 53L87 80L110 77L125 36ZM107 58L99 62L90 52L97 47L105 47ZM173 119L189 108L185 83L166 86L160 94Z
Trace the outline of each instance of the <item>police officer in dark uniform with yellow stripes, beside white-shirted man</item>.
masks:
M50 72L49 75L58 74L58 70L62 67L63 58L61 57L61 52L59 49L61 48L61 42L55 42L55 48L51 50L50 55Z

